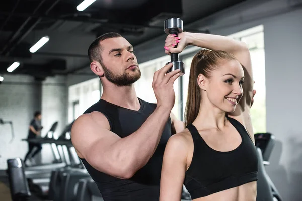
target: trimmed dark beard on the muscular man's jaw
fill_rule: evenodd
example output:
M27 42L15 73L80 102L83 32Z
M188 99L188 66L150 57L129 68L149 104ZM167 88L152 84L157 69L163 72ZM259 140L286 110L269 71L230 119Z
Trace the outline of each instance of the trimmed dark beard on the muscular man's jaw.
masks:
M116 84L117 86L131 86L134 82L136 82L140 76L141 72L139 68L135 68L134 71L137 71L134 75L129 75L126 72L124 72L121 75L116 75L112 71L110 71L105 65L102 65L104 70L104 76L108 79L108 81Z

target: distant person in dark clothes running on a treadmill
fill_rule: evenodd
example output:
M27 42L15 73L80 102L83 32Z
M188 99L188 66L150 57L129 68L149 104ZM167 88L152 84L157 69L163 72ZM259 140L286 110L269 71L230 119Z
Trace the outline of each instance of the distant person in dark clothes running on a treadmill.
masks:
M31 120L30 125L29 125L27 139L37 138L38 136L41 135L41 129L43 128L41 126L41 119L42 119L41 112L36 111L34 113L34 119ZM36 151L30 157L32 164L34 163L34 161L32 159L35 157L35 155L37 155L42 150L42 146L41 146L41 144L35 144L35 143L31 143L31 142L28 143L28 152L24 159L25 164L26 164L26 161L29 158L31 152L34 150L35 147L36 147Z

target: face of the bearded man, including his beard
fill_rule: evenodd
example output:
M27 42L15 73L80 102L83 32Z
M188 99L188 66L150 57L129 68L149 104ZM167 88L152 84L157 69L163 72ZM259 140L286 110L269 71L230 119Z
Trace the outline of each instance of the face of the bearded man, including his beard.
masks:
M132 45L123 37L101 41L104 76L117 86L129 86L140 76Z

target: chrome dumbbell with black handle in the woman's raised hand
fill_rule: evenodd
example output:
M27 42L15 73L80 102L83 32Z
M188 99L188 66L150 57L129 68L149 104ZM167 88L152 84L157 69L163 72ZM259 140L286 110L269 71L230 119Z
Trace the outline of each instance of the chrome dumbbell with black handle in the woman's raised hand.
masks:
M183 21L180 18L170 18L165 20L166 34L175 34L176 36L178 36L178 33L182 33L182 32L183 32ZM174 47L176 48L177 45L175 45ZM180 69L180 76L185 74L184 63L178 60L178 53L171 53L171 62L173 63L173 66L168 70L168 72Z

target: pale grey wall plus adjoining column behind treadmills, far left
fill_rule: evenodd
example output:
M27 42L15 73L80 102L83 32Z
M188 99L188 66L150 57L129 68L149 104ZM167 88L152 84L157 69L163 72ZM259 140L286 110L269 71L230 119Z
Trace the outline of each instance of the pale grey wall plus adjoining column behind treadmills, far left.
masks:
M10 125L0 125L0 169L7 169L8 158L25 157L28 145L21 139L27 137L29 123L36 110L42 112L42 137L54 121L59 122L57 133L63 130L67 119L66 91L64 77L50 77L41 83L35 82L30 76L6 75L5 81L0 85L0 118L13 122L15 139L9 143ZM53 160L50 145L43 145L39 158L44 163Z

